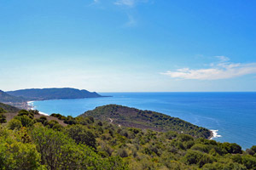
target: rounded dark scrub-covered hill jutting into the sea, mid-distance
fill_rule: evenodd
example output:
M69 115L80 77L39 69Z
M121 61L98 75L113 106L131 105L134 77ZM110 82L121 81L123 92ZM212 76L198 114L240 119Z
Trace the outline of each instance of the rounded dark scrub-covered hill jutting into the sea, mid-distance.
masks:
M93 111L86 111L81 116L93 116L102 121L111 121L125 127L152 129L159 132L169 130L187 133L195 138L210 138L211 131L204 127L195 126L179 118L166 116L154 111L142 111L122 105L104 105Z

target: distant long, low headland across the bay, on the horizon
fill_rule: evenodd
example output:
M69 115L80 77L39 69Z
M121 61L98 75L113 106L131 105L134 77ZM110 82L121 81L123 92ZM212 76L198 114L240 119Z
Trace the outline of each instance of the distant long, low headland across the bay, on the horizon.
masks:
M16 97L23 97L28 100L46 100L46 99L83 99L102 97L96 92L79 90L75 88L32 88L16 91L9 91L7 94Z

